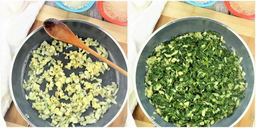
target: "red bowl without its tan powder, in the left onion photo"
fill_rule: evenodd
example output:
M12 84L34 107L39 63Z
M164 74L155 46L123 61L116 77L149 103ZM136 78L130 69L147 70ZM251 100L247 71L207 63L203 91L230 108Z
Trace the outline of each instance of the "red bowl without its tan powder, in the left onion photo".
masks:
M103 1L97 1L97 8L98 8L98 11L100 13L100 15L108 20L109 22L111 23L114 23L114 24L117 24L117 25L122 25L122 26L127 26L127 21L125 22L119 22L117 20L114 20L114 19L111 19L109 16L107 16L103 10L103 5L102 5Z

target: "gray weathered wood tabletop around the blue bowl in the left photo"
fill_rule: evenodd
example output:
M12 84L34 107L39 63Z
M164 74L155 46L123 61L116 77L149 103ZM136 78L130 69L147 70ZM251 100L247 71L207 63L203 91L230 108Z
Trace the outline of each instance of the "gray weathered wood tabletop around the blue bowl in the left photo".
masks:
M44 4L49 5L49 6L53 6L54 8L60 9L60 7L57 4L55 4L54 1L45 1ZM89 17L96 18L96 19L99 19L99 20L103 20L102 16L100 15L100 13L98 11L96 2L93 4L93 6L91 6L90 9L88 9L85 12L78 13L78 14L89 16Z

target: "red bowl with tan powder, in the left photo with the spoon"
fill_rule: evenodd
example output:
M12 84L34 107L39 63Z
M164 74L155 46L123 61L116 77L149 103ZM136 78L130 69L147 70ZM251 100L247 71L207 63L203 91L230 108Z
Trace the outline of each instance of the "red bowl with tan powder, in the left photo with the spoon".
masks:
M97 7L104 19L127 26L127 1L97 1Z

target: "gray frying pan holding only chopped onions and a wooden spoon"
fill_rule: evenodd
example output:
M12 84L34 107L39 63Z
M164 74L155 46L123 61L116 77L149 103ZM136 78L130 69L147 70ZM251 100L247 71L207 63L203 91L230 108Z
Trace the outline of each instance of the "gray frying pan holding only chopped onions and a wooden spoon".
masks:
M80 38L86 39L87 37L93 38L106 48L109 52L109 60L115 63L120 68L123 68L127 71L127 63L126 56L123 49L120 47L118 42L110 35L108 32L103 30L102 28L77 19L63 19L61 20L65 23L76 35ZM10 90L13 102L22 115L22 117L31 125L36 127L51 127L52 119L42 120L38 118L39 113L37 110L32 109L33 101L26 100L25 94L29 94L29 91L25 91L22 88L23 79L28 79L27 72L30 70L28 65L31 60L31 53L33 49L36 49L40 46L43 41L47 41L48 43L52 43L53 38L49 37L49 35L44 31L43 26L31 32L28 37L25 39L23 44L19 47L19 50L16 52L14 59L12 61L11 71L10 71ZM94 47L91 47L94 49ZM65 49L63 48L63 52L68 52L69 50L77 50L78 48L73 46L71 48ZM95 50L95 49L94 49ZM93 61L98 60L96 57L92 55L88 55L91 57ZM65 54L60 54L58 57L54 57L56 60L61 60L64 65L69 62L69 59L64 59ZM48 67L49 68L49 67ZM45 67L47 70L47 67ZM66 75L75 72L75 74L79 74L80 71L85 71L85 68L77 68L72 70L67 70L63 68ZM111 108L104 114L103 118L100 118L96 124L88 124L86 127L105 127L110 125L115 118L120 114L122 109L124 108L126 102L127 95L127 77L123 74L115 71L113 68L110 71L104 72L104 75L99 76L102 79L102 85L111 85L111 82L116 82L119 91L117 93L117 105L111 104ZM45 89L46 82L44 81L41 84L41 90ZM63 85L63 90L66 85ZM53 91L49 91L50 95L54 95L54 92L57 90L56 86L53 88ZM101 97L98 97L99 100L102 101ZM61 102L67 102L65 100L60 100ZM89 108L86 110L82 116L89 115L93 109ZM29 118L25 116L25 114L29 115ZM80 124L75 124L77 127ZM70 125L71 126L71 125ZM81 126L80 126L81 127Z

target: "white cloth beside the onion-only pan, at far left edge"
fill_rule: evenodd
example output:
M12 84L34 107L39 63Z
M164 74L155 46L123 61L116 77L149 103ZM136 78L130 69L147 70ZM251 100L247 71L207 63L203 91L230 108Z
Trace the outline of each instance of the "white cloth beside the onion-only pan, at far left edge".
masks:
M1 117L9 109L12 97L9 89L11 60L19 45L27 37L44 1L1 1Z

